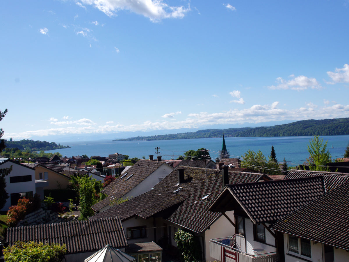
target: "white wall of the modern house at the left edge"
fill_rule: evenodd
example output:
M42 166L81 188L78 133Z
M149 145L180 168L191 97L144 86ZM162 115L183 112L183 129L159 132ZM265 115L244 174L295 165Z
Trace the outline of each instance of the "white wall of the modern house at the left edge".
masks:
M12 166L12 172L5 176L5 182L6 182L6 192L9 196L7 198L5 206L1 209L1 211L7 211L11 204L11 194L13 193L21 193L21 192L33 192L33 195L36 193L35 189L35 170L30 169L28 167L25 167L21 164L13 163L10 161L7 161L3 163L0 168L9 168ZM19 183L10 183L10 177L13 176L24 176L24 175L31 175L31 181L28 182L19 182Z

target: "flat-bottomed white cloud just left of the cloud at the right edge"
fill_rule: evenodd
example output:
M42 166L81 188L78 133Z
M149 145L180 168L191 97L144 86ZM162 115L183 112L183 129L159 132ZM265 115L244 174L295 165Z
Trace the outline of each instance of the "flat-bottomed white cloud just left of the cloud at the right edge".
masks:
M281 77L276 78L277 86L269 86L269 89L292 89L305 90L307 88L318 89L322 88L315 78L308 78L304 75L299 75L291 80L285 80Z

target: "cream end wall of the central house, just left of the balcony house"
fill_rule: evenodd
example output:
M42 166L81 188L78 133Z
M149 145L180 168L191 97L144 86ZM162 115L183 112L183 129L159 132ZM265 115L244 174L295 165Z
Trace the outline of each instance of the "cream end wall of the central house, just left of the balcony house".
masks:
M227 211L225 214L234 221L234 211ZM205 237L206 261L215 261L215 259L210 256L210 240L232 236L233 234L235 234L235 227L223 215L220 216L215 223L210 226L210 229L206 230L203 234Z

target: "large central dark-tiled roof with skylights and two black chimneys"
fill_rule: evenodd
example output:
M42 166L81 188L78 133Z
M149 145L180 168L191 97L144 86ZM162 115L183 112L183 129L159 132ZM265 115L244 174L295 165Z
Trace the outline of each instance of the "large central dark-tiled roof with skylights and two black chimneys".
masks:
M114 206L91 218L120 216L126 220L133 216L142 218L163 217L183 227L201 233L221 213L208 211L208 207L223 190L222 172L217 169L184 167L185 181L178 184L178 170L173 170L154 189ZM189 176L189 177L188 177ZM263 175L229 171L230 183L255 182ZM174 190L182 188L177 194ZM210 193L210 194L208 194ZM206 199L201 198L209 195Z

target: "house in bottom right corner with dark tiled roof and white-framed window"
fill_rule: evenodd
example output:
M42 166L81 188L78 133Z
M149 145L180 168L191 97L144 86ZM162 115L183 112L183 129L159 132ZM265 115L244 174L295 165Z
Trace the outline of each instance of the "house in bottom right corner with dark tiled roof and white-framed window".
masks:
M349 182L274 223L285 261L349 261Z

